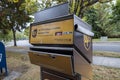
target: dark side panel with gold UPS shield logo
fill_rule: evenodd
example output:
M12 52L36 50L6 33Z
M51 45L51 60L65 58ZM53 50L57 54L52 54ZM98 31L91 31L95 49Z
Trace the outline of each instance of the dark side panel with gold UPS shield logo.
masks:
M80 32L74 32L75 49L89 62L92 63L92 38Z

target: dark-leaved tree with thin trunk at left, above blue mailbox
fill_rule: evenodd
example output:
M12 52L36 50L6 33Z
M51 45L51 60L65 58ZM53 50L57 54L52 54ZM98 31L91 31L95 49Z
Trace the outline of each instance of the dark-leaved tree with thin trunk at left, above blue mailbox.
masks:
M14 46L16 31L21 31L31 21L29 16L37 10L36 0L0 0L0 29L12 30Z

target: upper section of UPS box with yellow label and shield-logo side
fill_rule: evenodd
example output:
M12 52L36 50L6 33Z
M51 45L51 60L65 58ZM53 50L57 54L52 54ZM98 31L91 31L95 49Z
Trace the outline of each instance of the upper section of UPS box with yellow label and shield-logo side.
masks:
M34 46L41 46L41 51L45 47L75 48L91 63L93 35L90 25L75 15L67 15L31 24L29 41Z

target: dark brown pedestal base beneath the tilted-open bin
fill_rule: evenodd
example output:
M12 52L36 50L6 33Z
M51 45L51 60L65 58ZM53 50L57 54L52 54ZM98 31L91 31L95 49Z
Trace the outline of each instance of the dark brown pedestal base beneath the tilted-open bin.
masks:
M81 80L81 76L79 74L70 76L58 71L41 67L41 80Z

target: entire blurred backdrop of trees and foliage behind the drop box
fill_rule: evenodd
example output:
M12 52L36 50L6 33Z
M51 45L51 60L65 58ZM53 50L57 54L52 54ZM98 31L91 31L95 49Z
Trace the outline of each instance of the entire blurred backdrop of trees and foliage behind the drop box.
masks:
M0 0L0 40L28 39L37 11L68 2L70 13L89 23L94 38L120 38L120 0Z

